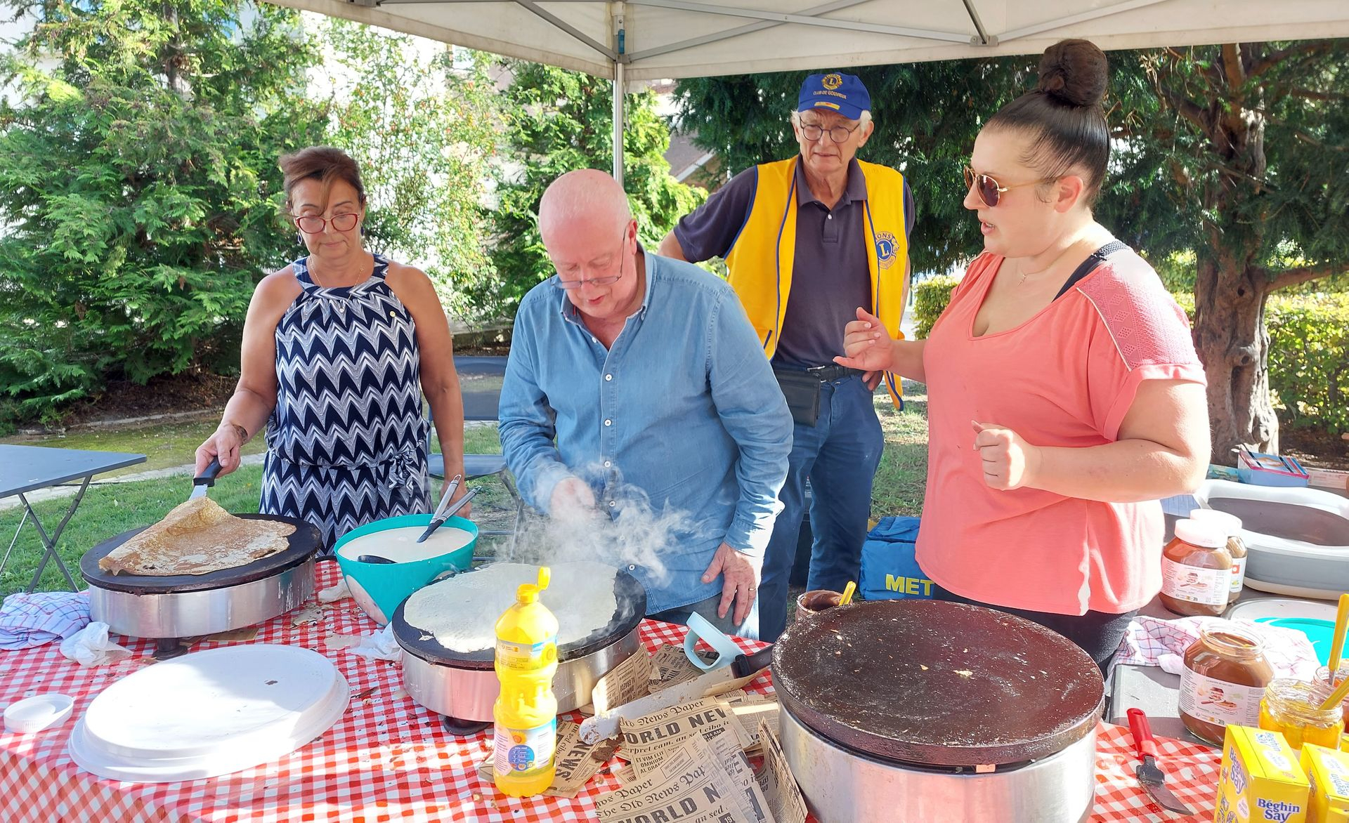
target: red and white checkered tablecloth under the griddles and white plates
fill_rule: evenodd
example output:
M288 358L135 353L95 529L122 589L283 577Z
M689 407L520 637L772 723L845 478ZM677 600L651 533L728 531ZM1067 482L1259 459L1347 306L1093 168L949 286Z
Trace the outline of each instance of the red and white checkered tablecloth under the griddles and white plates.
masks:
M336 583L339 576L335 563L318 564L320 588ZM321 738L279 761L186 783L103 780L77 769L66 754L74 722L89 702L112 681L152 662L151 641L125 641L135 653L132 658L92 669L62 657L55 644L0 652L0 706L43 692L76 699L74 714L61 726L30 735L0 734L0 820L591 820L595 795L618 787L606 768L575 800L517 800L498 795L476 770L478 762L491 750L490 730L469 738L451 737L437 715L413 703L402 691L398 664L325 646L324 640L329 635L368 634L376 629L352 600L325 607L322 618L314 623L291 626L291 617L264 623L251 642L297 645L326 654L351 684L351 708ZM664 644L683 642L683 627L645 621L641 638L654 650ZM205 641L196 648L213 645L220 644ZM741 645L746 650L761 646L750 641L741 641ZM772 692L768 673L750 689ZM1184 819L1205 819L1213 808L1215 754L1178 741L1159 739L1159 743L1164 762L1176 777L1176 795L1206 812ZM616 761L610 764L616 765ZM1182 819L1151 805L1132 774L1128 730L1102 725L1093 820Z

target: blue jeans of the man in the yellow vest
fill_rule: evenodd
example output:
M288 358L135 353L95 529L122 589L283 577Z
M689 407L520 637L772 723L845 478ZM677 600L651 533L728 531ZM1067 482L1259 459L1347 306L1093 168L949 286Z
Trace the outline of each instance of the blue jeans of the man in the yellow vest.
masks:
M759 640L773 642L786 627L788 580L805 514L811 479L811 576L808 588L843 591L862 567L862 541L871 514L871 480L881 464L881 422L861 375L820 385L820 416L792 430L792 456L778 499L782 511L764 556Z

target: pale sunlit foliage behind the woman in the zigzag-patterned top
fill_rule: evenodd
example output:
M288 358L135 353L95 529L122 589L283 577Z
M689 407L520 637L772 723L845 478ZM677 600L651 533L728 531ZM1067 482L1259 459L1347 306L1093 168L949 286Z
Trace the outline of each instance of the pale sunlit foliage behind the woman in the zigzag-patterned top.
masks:
M482 240L499 116L482 55L456 69L449 47L428 59L407 35L340 19L317 36L328 140L360 163L367 243L424 268L453 313L496 313ZM469 294L486 300L475 305Z

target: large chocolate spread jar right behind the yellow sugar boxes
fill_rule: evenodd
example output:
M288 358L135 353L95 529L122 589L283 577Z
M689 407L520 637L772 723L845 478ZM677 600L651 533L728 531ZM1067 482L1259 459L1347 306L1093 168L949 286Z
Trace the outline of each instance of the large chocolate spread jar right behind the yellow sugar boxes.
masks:
M1221 746L1229 725L1260 722L1260 699L1271 680L1273 668L1260 637L1236 623L1214 621L1184 650L1180 722L1199 739Z

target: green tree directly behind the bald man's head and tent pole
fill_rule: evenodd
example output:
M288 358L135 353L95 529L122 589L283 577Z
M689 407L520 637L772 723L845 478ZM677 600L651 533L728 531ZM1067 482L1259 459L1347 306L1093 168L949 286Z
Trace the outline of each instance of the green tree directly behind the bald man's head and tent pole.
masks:
M544 189L573 169L612 167L614 98L603 78L523 61L506 67L513 76L505 104L513 166L503 170L492 219L499 273L492 289L503 310L514 313L525 293L553 274L538 236ZM654 94L629 94L626 107L623 188L642 240L654 248L704 193L669 175L669 128L656 113Z

